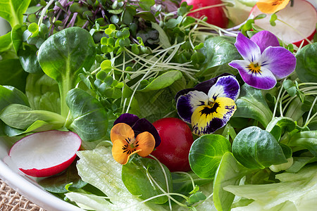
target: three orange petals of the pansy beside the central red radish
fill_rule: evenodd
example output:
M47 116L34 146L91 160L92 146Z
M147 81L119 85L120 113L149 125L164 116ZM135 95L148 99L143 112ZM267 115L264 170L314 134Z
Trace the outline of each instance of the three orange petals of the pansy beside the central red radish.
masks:
M133 129L125 123L115 124L111 129L110 137L113 143L113 158L123 165L135 153L142 157L147 157L155 146L155 139L152 134L142 132L135 137Z

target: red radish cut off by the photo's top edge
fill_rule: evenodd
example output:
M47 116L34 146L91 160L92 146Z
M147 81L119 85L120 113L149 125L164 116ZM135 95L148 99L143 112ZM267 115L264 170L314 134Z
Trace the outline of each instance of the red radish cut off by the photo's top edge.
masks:
M205 6L212 6L217 4L223 4L223 1L221 0L182 0L186 1L188 5L192 5L192 10L202 8ZM225 14L225 6L216 6L213 8L206 8L201 11L196 11L193 13L189 13L189 16L192 16L194 18L201 18L202 16L206 16L207 23L210 23L212 25L216 25L218 27L225 28L228 26L229 19L227 15Z

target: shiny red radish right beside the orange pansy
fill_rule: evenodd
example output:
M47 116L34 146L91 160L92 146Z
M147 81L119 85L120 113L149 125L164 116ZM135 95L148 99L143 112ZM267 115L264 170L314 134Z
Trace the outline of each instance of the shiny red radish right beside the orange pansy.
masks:
M161 144L151 153L171 172L190 170L188 154L194 139L186 122L174 117L167 117L153 123L159 132Z

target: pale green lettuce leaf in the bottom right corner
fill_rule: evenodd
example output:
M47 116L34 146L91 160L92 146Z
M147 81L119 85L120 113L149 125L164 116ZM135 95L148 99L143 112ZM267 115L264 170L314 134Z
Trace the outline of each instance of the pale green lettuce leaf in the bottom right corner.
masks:
M297 173L277 174L280 183L225 186L225 191L254 202L237 210L315 210L317 206L317 165ZM252 208L252 209L251 209Z

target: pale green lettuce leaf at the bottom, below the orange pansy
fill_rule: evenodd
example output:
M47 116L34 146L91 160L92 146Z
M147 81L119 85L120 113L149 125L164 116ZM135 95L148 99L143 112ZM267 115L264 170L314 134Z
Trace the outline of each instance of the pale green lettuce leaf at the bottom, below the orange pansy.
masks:
M78 174L83 181L99 188L111 203L96 196L87 196L80 193L68 193L70 200L80 205L92 207L94 210L123 210L129 207L130 210L167 210L168 206L156 205L153 203L142 203L142 200L125 188L121 179L122 165L113 160L111 148L100 146L93 151L79 151L77 155L80 160L77 162ZM103 206L99 206L102 204Z

